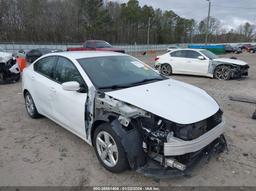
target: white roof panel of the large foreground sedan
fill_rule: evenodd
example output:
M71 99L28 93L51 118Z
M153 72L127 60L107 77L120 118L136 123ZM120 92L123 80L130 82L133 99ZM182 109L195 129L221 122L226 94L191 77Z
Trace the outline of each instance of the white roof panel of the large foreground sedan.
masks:
M124 56L126 54L111 51L66 51L47 54L48 56L64 56L72 59L104 57L104 56Z

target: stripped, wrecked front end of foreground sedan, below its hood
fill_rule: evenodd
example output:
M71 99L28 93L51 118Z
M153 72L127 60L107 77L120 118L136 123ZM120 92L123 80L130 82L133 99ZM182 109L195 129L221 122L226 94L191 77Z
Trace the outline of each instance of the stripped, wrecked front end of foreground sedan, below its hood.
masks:
M94 115L111 124L130 167L148 176L184 175L203 156L226 147L221 110L182 125L99 93Z

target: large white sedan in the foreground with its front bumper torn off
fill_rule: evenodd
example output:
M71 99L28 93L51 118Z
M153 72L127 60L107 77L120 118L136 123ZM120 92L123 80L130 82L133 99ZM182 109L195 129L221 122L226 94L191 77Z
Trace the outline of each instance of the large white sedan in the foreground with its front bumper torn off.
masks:
M226 146L213 98L125 54L45 55L24 70L23 93L29 116L43 115L82 138L112 172L185 172Z

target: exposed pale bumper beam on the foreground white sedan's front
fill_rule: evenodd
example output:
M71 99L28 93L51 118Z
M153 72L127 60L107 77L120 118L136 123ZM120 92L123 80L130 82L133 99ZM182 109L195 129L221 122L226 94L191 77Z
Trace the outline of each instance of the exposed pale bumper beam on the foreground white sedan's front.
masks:
M217 125L207 133L191 141L184 141L173 137L164 144L164 156L178 156L201 150L217 139L224 132L224 122Z

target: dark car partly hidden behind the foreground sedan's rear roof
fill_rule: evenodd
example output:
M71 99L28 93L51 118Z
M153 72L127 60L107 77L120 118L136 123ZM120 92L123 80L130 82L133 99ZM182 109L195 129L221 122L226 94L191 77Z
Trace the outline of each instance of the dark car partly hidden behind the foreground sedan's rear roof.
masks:
M39 57L52 52L62 52L62 50L49 49L49 48L32 49L26 54L26 60L27 62L32 63Z

